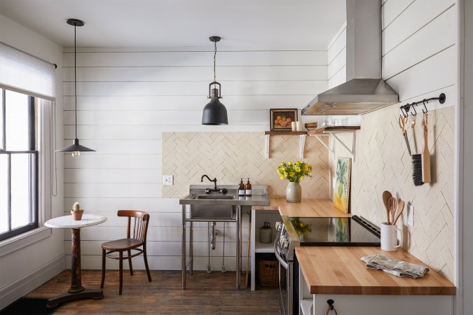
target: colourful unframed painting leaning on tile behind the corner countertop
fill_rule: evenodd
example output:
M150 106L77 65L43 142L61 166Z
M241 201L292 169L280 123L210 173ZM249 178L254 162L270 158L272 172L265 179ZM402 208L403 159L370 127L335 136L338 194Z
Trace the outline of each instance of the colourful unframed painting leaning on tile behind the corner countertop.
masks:
M336 162L336 182L334 190L334 206L348 214L350 204L351 158L338 158Z

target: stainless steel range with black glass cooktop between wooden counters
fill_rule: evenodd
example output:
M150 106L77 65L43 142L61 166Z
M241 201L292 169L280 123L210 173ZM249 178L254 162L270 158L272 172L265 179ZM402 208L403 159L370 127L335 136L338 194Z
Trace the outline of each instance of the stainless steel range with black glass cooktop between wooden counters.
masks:
M274 253L279 261L281 313L299 314L299 263L296 246L380 246L379 228L359 216L351 218L292 218L276 223ZM286 283L281 283L282 274Z

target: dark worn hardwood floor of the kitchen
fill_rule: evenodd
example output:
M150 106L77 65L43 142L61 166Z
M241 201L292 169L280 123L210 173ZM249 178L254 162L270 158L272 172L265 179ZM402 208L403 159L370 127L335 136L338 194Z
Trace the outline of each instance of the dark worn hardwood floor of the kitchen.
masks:
M100 270L83 270L82 285L100 288ZM194 272L181 290L181 272L152 271L130 276L123 271L123 295L118 295L118 271L107 271L102 300L69 302L55 314L279 314L278 288L235 289L235 272ZM242 282L244 280L242 274ZM70 271L65 270L39 286L27 297L49 298L67 291ZM244 283L243 283L244 285Z

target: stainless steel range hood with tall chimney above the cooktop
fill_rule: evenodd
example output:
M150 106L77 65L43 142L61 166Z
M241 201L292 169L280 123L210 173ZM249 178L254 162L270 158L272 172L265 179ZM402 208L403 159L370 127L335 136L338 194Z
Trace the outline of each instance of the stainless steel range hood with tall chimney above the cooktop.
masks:
M358 115L399 102L381 78L381 1L347 0L347 82L314 97L302 115Z

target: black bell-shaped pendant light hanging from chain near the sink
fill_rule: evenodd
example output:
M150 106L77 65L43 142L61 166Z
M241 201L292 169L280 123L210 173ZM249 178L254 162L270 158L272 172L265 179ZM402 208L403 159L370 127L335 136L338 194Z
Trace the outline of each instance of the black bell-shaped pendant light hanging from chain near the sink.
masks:
M214 82L209 85L209 104L205 105L202 113L202 125L228 125L228 116L224 104L221 104L221 85L216 81L215 76L215 57L217 56L217 41L219 36L211 36L210 41L214 42ZM213 88L212 88L213 85ZM217 85L219 86L217 88ZM212 93L212 94L211 94Z

